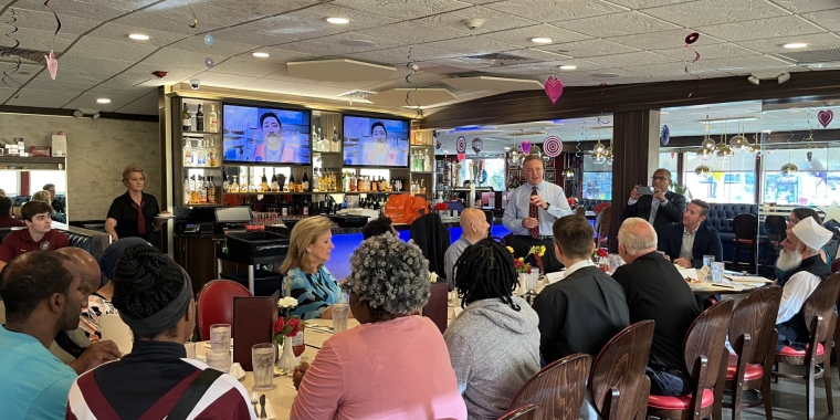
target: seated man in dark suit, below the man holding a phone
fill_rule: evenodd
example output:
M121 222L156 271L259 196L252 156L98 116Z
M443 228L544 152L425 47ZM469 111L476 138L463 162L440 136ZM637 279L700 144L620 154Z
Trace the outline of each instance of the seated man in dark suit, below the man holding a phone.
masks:
M683 269L703 266L703 255L714 255L723 261L723 245L717 230L703 223L708 216L708 204L692 200L683 214L682 224L671 224L659 238L659 250Z

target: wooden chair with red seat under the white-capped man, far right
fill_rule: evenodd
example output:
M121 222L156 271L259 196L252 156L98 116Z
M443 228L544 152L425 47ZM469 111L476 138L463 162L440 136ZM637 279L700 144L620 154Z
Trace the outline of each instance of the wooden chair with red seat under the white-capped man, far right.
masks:
M808 345L804 350L797 350L785 346L781 351L776 351L776 361L787 365L805 366L805 375L773 372L774 378L789 378L805 380L805 397L808 400L808 419L813 419L813 380L823 378L826 381L826 402L828 413L834 412L831 396L831 364L826 357L826 349L831 351L831 333L834 332L837 314L834 302L840 293L840 274L833 274L820 282L802 305L802 315L808 333L811 334ZM822 368L818 365L822 364ZM826 370L829 374L826 374Z

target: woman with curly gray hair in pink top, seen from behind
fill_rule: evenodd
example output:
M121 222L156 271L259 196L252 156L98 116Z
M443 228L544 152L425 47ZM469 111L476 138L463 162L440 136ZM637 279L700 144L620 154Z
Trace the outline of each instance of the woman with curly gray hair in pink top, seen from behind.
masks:
M334 335L312 367L295 368L291 419L466 419L447 345L429 318L429 262L390 234L350 258L358 327Z

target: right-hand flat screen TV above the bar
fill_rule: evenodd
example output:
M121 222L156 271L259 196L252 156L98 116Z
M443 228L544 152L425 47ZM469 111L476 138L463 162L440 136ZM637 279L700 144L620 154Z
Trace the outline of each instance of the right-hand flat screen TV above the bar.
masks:
M408 119L344 116L344 165L408 167Z

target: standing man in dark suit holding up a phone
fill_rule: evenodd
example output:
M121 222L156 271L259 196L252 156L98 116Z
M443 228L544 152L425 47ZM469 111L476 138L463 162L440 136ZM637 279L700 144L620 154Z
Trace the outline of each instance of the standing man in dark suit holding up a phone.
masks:
M671 224L682 222L682 216L685 212L685 197L669 191L671 188L671 171L668 169L657 169L651 177L654 192L650 195L640 195L639 187L633 187L630 192L630 200L624 207L623 218L641 218L653 224L659 237L665 235L665 228Z

